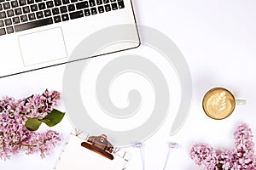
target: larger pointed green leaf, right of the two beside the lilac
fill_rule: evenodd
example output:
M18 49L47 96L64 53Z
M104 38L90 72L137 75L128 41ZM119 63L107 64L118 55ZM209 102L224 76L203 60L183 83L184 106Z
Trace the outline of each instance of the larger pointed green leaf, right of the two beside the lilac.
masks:
M44 117L42 122L47 124L49 127L53 127L59 122L61 122L62 118L64 117L65 113L58 111L58 110L53 110L51 111L47 116Z

